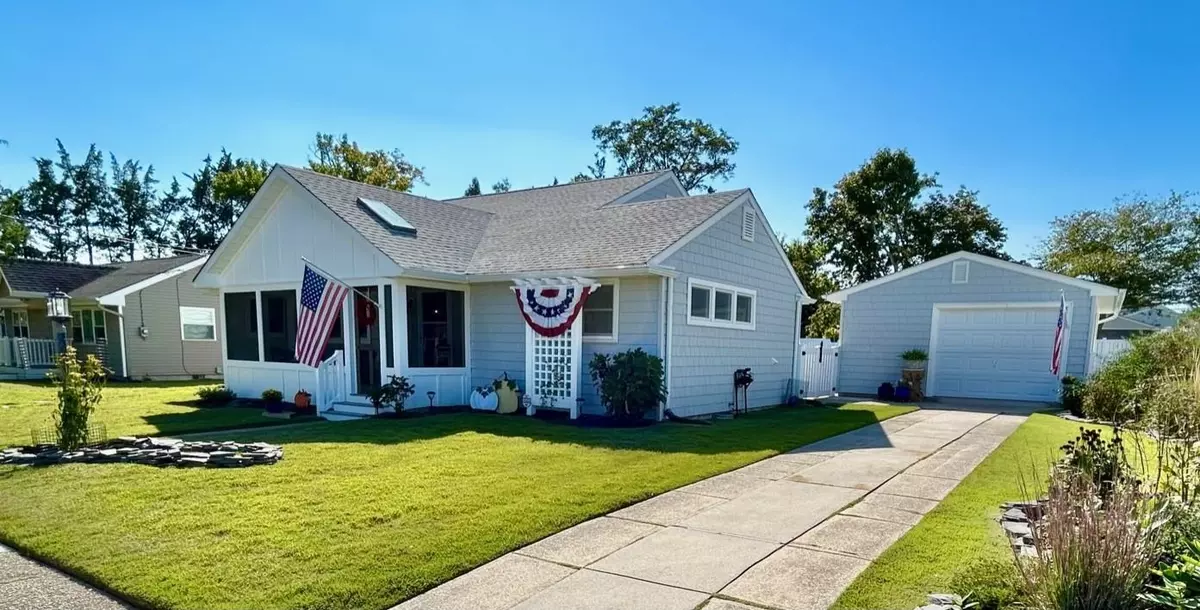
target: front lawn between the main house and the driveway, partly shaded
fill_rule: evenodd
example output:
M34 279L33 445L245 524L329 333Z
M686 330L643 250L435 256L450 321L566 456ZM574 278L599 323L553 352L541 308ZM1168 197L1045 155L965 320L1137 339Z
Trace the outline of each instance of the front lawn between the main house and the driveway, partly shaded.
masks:
M388 608L589 518L911 411L582 429L438 414L226 435L246 470L0 467L0 539L150 608Z

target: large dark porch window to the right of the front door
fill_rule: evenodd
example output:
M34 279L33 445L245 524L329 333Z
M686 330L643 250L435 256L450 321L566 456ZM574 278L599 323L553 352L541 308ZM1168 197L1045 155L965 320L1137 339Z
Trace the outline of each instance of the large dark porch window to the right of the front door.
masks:
M464 295L409 286L408 366L461 369L467 366Z

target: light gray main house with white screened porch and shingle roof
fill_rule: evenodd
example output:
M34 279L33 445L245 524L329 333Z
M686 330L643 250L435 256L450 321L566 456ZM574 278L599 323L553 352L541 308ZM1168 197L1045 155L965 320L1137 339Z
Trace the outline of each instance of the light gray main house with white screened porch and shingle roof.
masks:
M293 353L305 259L355 288L319 370ZM514 298L584 283L558 337ZM743 367L749 405L778 405L810 301L749 190L688 196L671 172L442 202L276 166L196 285L221 292L230 389L305 389L330 417L371 413L394 375L422 406L508 373L536 405L600 413L587 363L637 347L664 359L677 414L728 411Z

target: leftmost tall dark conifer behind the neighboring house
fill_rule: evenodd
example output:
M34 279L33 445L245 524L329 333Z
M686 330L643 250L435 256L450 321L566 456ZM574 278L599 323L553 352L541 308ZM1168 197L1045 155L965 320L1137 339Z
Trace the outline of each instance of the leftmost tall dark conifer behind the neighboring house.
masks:
M54 171L54 161L34 160L37 173L24 189L24 205L19 216L25 221L38 247L38 258L74 261L79 252L74 219L71 210L71 186Z

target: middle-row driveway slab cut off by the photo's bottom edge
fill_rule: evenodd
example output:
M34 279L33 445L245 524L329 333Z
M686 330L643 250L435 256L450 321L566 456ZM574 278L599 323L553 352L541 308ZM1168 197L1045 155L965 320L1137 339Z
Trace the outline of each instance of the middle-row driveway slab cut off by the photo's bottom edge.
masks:
M514 610L692 610L704 593L581 569Z

